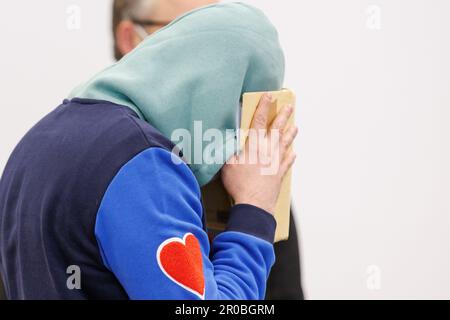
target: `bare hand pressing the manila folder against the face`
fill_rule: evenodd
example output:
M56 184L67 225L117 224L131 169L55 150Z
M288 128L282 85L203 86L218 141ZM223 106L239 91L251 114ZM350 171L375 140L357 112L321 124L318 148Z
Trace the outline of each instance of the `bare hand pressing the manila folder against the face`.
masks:
M293 107L287 106L268 131L271 102L270 94L261 98L245 148L222 168L222 181L236 204L254 205L274 214L283 178L295 162L290 146L298 128L284 130L293 113ZM268 167L275 170L269 172Z

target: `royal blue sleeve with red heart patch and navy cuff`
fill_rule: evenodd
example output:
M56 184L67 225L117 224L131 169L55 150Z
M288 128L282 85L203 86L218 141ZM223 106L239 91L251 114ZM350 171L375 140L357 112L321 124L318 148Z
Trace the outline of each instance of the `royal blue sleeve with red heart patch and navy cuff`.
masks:
M263 299L274 218L235 206L210 246L199 185L173 157L145 150L109 185L95 225L105 266L131 299Z

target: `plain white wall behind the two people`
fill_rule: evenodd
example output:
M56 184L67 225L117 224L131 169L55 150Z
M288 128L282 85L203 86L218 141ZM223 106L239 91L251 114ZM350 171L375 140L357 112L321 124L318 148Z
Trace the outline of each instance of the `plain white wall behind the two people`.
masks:
M307 297L449 299L450 1L247 2L278 27L298 94ZM112 62L110 7L2 4L0 170L35 122Z

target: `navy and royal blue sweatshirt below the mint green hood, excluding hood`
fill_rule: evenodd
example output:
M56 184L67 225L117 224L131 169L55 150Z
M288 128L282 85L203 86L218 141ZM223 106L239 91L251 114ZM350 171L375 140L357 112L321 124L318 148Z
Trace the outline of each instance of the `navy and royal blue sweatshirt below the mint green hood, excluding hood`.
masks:
M274 218L235 206L210 243L199 185L174 150L106 101L66 100L34 126L0 180L8 298L262 299Z

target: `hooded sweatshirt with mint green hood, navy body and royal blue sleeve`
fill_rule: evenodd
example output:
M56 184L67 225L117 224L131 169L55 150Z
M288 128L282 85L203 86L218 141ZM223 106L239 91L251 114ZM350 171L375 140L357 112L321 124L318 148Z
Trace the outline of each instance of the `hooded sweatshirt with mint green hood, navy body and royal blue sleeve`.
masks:
M278 89L282 73L264 15L220 4L75 90L19 142L0 180L8 298L262 299L274 218L234 206L210 242L200 185L221 165L183 161L171 131L190 133L194 120L236 129L241 93Z

